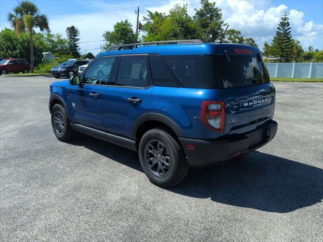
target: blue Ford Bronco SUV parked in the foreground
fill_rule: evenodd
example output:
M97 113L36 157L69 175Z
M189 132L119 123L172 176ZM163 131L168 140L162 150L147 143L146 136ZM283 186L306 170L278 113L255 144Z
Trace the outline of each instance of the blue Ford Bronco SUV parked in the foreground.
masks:
M258 48L200 40L113 46L81 76L52 83L49 99L59 140L78 131L138 151L160 187L270 142L274 108Z

